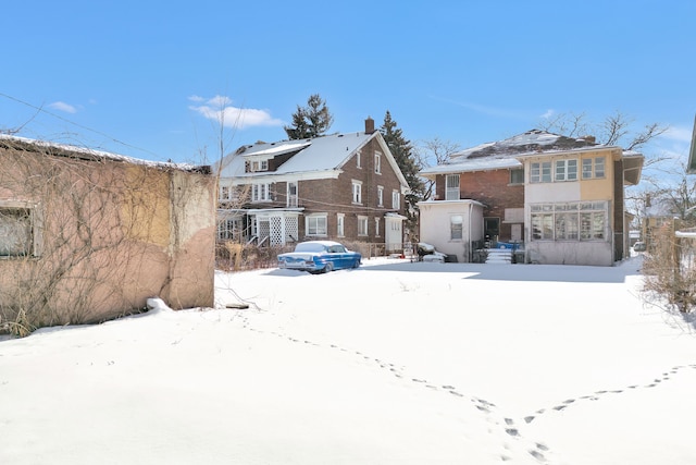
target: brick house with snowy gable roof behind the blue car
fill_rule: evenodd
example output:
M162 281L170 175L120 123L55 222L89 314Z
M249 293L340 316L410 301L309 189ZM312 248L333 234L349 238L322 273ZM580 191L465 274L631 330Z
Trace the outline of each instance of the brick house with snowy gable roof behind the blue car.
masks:
M403 247L408 183L372 119L364 132L243 146L216 171L219 240Z

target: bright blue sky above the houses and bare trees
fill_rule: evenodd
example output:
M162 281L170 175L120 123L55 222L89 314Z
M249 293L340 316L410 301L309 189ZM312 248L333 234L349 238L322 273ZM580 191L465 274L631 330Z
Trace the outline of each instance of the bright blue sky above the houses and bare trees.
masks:
M646 152L684 161L696 113L689 0L26 0L3 20L0 130L148 160L215 159L221 108L243 122L226 150L284 139L316 93L330 132L388 110L461 148L618 111L670 125Z

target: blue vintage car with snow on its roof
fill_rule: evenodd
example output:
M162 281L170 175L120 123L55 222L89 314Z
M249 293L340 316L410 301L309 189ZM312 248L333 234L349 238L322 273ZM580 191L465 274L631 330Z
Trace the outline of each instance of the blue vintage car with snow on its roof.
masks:
M362 256L333 241L307 241L295 246L295 252L278 255L278 268L327 273L344 268L358 268Z

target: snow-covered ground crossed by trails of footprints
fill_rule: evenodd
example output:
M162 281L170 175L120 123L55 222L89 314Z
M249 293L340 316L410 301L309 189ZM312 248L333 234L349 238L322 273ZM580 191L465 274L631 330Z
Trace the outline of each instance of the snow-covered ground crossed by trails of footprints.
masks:
M696 335L638 266L219 273L0 342L0 463L693 464Z

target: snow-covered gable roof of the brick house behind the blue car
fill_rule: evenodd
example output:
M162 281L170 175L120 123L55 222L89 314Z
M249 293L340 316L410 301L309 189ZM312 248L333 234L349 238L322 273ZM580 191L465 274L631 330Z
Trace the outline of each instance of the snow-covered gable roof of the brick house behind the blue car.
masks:
M384 137L378 131L372 134L364 132L333 134L300 140L279 140L260 143L240 147L236 152L225 156L220 167L221 178L236 178L241 182L250 179L327 179L337 178L341 167L370 140L376 139L383 156L391 166L402 186L408 182L389 151ZM245 162L291 154L286 162L275 171L245 172ZM217 167L216 167L217 168Z

